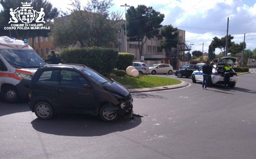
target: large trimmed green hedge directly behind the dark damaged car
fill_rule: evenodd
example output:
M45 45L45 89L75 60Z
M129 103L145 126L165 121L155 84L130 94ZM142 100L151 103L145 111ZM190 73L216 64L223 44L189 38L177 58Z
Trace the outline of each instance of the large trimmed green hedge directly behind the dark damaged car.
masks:
M108 74L116 66L118 51L112 48L67 48L56 53L63 64L83 64L100 74Z

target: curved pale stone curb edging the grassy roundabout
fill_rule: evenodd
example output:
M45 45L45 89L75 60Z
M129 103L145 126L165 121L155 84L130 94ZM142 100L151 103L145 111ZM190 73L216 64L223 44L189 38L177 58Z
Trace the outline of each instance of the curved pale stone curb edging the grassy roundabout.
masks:
M160 91L160 90L182 88L182 87L186 87L187 85L189 85L188 82L181 80L180 84L161 86L161 87L151 87L151 88L128 89L128 91L130 93L153 92L153 91Z

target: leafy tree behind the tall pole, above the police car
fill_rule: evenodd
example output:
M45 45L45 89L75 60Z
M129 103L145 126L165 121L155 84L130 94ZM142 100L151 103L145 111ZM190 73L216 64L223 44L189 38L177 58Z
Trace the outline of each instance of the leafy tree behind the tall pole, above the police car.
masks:
M234 36L228 35L228 48L231 47L231 40L234 38ZM225 55L225 49L226 49L226 36L218 38L215 36L213 40L211 41L211 47L213 48L219 48L223 55Z

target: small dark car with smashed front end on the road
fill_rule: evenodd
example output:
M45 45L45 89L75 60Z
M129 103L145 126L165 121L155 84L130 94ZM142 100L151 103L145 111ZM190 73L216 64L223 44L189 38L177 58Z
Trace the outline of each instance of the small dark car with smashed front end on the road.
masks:
M54 113L99 115L105 122L133 114L133 98L120 83L84 65L45 65L31 79L30 110L40 119Z

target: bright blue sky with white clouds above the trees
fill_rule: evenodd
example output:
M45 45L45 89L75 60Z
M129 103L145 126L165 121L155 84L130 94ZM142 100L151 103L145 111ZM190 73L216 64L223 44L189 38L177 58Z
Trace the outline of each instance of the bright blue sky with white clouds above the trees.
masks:
M68 5L70 0L62 0L61 3L57 0L49 1L54 7L63 11L66 11L67 7L70 8ZM83 6L86 3L87 0L81 0ZM227 29L227 17L229 17L229 34L234 36L233 41L242 42L246 33L246 40L254 38L246 42L247 48L256 48L256 0L113 0L114 5L110 10L124 13L125 9L120 5L125 3L135 7L139 4L152 6L165 14L162 25L172 24L186 30L186 41L194 44L192 51L202 51L202 42L204 42L204 52L208 52L208 46L214 36L225 36L226 32L222 30ZM186 11L188 12L180 17ZM178 17L180 18L176 20ZM216 49L215 53L218 52L220 50Z

